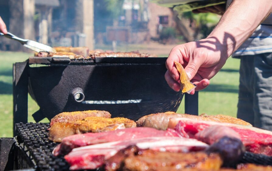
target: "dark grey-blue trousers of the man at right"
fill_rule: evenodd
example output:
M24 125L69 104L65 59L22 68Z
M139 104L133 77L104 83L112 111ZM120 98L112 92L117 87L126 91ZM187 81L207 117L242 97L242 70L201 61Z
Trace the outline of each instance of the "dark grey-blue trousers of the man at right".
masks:
M272 131L272 53L240 58L237 117Z

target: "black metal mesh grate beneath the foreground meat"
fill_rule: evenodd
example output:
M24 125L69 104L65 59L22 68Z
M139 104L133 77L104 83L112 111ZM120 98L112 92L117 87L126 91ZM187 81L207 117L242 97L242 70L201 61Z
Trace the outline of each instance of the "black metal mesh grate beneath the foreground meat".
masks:
M18 123L16 131L37 164L39 170L65 171L69 165L63 156L54 156L53 149L58 145L48 139L49 124L43 123ZM241 163L254 163L272 165L272 157L246 152Z

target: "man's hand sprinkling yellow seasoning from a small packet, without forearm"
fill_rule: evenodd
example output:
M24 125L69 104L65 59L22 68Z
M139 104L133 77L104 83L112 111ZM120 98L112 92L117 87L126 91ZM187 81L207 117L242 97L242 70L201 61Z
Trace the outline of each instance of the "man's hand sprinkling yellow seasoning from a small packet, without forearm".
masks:
M165 79L175 91L180 90L180 75L174 61L180 62L191 82L197 85L196 91L206 88L211 79L225 64L227 53L222 53L220 42L215 38L207 38L174 47L166 60ZM190 93L194 94L194 90Z

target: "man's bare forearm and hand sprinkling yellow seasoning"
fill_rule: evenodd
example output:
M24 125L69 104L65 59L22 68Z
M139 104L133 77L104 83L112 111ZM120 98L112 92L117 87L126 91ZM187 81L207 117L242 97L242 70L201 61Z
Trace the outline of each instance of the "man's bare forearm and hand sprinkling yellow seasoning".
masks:
M272 12L271 0L233 0L211 34L203 40L174 47L166 61L165 79L175 91L180 90L179 73L174 61L183 65L196 91L209 85L228 57L254 32ZM194 94L192 91L190 94Z

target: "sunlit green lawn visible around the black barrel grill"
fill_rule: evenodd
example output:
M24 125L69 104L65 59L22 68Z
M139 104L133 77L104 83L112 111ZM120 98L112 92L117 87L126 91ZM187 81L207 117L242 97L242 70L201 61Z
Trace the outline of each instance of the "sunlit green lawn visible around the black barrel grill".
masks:
M12 137L12 64L25 61L33 54L0 51L0 137ZM159 56L168 56L159 55ZM236 116L239 85L239 60L229 58L223 70L213 79L210 86L199 93L199 113L226 114ZM184 101L178 112L184 113ZM29 96L28 121L33 122L33 114L39 109ZM49 122L47 119L42 122Z

